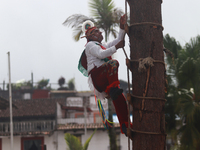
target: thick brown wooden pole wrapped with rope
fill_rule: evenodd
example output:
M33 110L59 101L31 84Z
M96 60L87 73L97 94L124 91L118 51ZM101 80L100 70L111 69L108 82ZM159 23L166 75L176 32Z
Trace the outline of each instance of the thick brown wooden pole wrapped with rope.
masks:
M132 70L133 150L165 150L165 65L161 0L129 0ZM140 58L154 66L139 72ZM151 97L151 98L141 98ZM157 99L158 98L158 99Z

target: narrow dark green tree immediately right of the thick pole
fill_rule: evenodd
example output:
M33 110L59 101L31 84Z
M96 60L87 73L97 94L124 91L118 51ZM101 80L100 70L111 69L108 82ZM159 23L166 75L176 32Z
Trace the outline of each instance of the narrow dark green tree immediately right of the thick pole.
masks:
M169 34L166 34L163 38L163 44L166 48L166 56L165 62L167 63L166 68L166 99L167 102L165 104L165 120L166 124L166 131L167 133L171 133L176 128L176 106L177 106L177 99L178 99L178 91L177 91L177 83L176 83L176 65L175 61L178 58L178 53L182 49L179 42L177 42L173 37L170 37ZM173 134L173 133L171 133Z

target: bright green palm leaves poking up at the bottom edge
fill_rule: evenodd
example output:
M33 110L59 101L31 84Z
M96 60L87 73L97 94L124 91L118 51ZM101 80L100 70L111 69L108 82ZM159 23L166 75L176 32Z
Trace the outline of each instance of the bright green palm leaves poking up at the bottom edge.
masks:
M65 134L65 141L67 143L68 149L67 150L87 150L89 146L89 142L91 141L93 135L95 134L96 130L92 133L92 135L87 139L85 144L82 146L80 140L69 133Z

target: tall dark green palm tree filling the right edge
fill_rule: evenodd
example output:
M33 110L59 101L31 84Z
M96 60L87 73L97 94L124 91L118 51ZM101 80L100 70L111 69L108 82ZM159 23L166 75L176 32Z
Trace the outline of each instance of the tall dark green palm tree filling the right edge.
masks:
M179 109L185 124L180 128L181 150L197 149L200 143L200 36L191 38L179 52L177 60L178 88L184 89Z

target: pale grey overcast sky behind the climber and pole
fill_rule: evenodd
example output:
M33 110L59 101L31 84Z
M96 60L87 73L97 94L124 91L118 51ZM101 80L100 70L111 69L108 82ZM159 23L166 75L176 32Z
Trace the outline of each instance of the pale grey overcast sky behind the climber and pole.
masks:
M114 2L125 10L124 0ZM199 6L199 0L163 0L163 35L168 33L182 46L199 35ZM57 83L63 76L66 82L75 78L78 91L89 90L87 78L77 69L86 40L75 42L71 28L62 25L73 14L91 16L88 0L0 0L0 83L9 81L9 51L14 83L31 80L33 72L34 82L44 78ZM126 41L129 55L127 36ZM115 58L120 62L119 79L127 81L123 50Z

